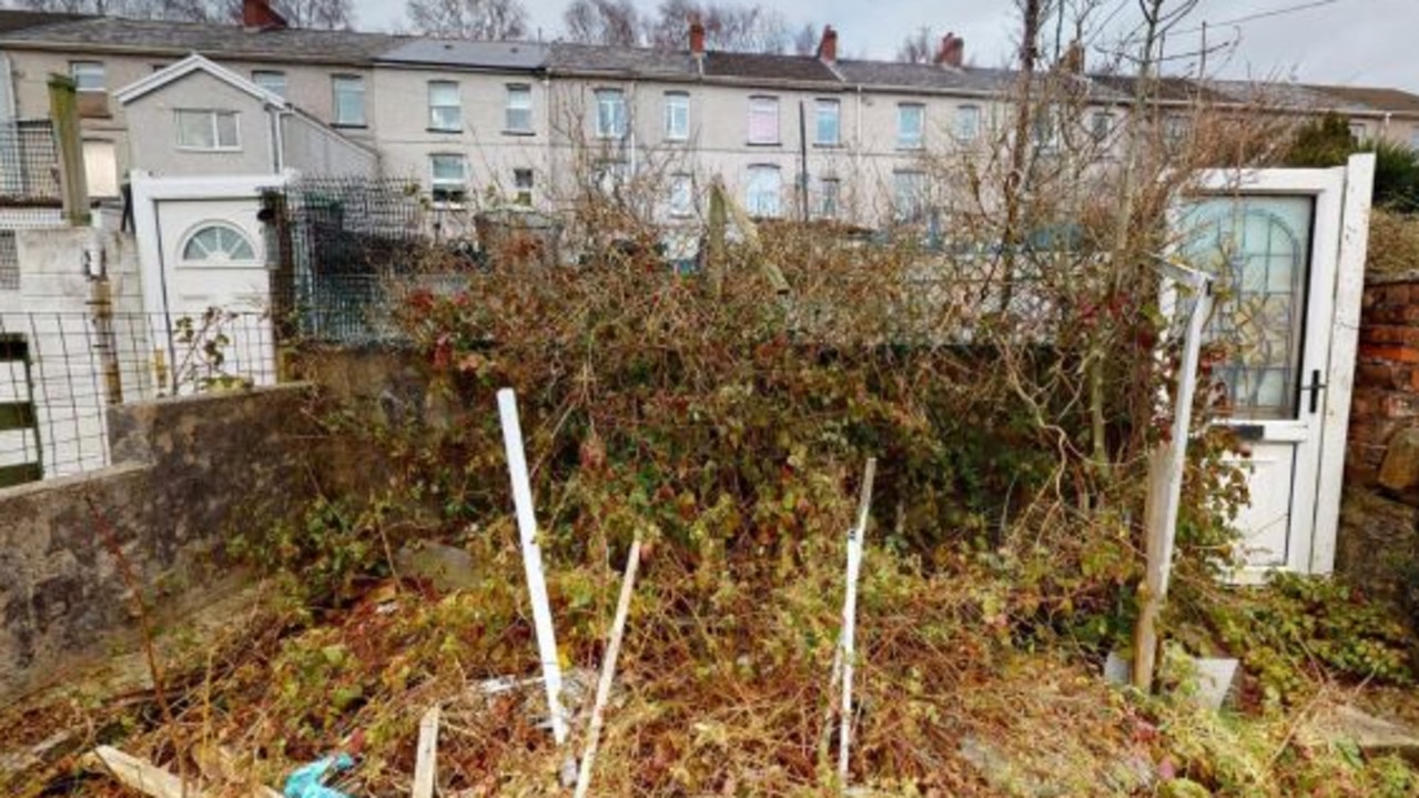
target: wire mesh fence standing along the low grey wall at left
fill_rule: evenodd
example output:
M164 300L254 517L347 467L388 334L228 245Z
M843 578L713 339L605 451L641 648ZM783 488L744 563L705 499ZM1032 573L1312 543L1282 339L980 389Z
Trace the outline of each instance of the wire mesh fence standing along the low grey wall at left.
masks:
M111 464L109 406L275 381L258 314L0 314L0 487Z

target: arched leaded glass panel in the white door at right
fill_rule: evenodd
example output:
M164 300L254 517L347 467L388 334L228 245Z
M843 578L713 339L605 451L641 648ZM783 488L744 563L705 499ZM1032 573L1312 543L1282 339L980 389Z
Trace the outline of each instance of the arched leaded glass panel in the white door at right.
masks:
M1313 214L1308 196L1203 199L1185 210L1182 256L1218 278L1205 339L1229 417L1298 417Z

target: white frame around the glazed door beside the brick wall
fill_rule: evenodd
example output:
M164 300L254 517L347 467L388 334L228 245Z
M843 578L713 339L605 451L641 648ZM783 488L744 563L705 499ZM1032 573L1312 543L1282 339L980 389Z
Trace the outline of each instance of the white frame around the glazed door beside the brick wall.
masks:
M1315 484L1311 535L1288 547L1284 565L1303 574L1330 574L1335 567L1374 175L1375 156L1366 153L1334 169L1208 170L1199 185L1200 193L1212 196L1313 196L1311 264L1335 264L1332 274L1310 280L1307 298L1307 321L1315 324L1307 324L1304 356L1320 366L1325 389L1315 470L1301 477ZM1307 381L1304 373L1301 381ZM1293 513L1305 510L1293 507ZM1264 571L1244 568L1237 576L1256 581Z

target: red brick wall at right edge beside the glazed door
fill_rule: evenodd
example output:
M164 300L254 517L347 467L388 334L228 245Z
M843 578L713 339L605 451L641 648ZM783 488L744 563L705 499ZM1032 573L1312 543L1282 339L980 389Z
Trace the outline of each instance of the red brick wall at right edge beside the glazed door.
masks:
M1368 278L1362 307L1345 476L1374 487L1396 433L1419 427L1419 273Z

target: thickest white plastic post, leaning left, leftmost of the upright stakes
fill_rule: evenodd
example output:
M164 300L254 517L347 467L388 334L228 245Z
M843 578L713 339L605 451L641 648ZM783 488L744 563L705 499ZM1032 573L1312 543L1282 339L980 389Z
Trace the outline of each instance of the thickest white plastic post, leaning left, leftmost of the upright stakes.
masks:
M512 503L517 505L518 532L522 537L522 567L528 576L528 592L532 595L532 623L536 628L536 647L542 659L546 707L552 716L552 737L561 745L566 741L566 713L562 710L562 665L558 660L552 605L548 602L546 579L542 575L542 550L536 544L536 515L532 513L532 483L528 480L528 461L522 452L518 396L511 388L498 392L498 415L502 417L502 443L508 450Z

